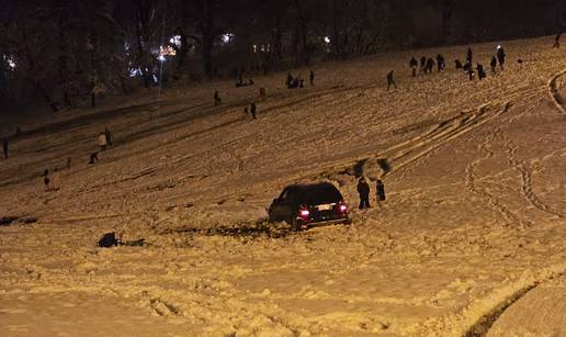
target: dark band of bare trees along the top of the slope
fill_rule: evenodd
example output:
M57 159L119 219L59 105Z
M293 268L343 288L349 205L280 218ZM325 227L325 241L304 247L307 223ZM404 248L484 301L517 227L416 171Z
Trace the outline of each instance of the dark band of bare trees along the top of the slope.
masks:
M559 0L4 0L0 109L315 58L554 34ZM161 55L161 59L158 56Z

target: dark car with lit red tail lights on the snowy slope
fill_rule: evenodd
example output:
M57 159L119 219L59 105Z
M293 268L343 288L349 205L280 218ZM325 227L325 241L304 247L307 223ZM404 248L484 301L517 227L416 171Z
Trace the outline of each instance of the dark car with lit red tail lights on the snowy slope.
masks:
M286 187L269 207L269 220L287 222L292 231L314 225L349 223L344 199L331 183Z

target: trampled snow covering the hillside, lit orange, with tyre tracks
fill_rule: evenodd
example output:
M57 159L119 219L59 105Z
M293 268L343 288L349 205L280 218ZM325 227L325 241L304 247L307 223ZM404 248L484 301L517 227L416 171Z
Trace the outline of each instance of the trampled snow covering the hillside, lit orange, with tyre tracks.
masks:
M321 64L296 90L274 74L21 124L0 160L0 335L566 334L566 49L552 42L472 45L486 69L498 44L508 55L483 81L454 69L454 46ZM437 53L448 69L411 78L410 57ZM105 126L114 146L89 165ZM384 181L383 210L356 210L360 172L372 193ZM351 225L265 222L285 186L314 181L341 190ZM97 247L107 232L144 245Z

